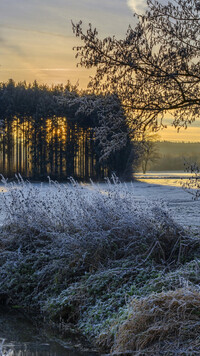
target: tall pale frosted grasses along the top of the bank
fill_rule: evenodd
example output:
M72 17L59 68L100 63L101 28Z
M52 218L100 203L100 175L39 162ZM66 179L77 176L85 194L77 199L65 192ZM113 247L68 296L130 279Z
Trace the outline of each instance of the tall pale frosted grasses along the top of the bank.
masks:
M97 266L130 255L138 261L154 256L161 263L179 249L183 231L163 207L136 201L134 189L115 177L101 186L73 180L48 186L22 179L4 183L6 241L9 236L20 251L51 244L51 253L58 249L68 261Z

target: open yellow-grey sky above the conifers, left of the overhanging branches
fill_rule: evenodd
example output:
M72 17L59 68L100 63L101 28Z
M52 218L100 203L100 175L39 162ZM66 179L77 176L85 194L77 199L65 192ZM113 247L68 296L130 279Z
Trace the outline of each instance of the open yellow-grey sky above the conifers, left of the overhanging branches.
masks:
M91 22L103 36L123 38L143 0L0 0L0 81L37 79L48 84L91 74L77 69L72 47L80 42L71 20Z

